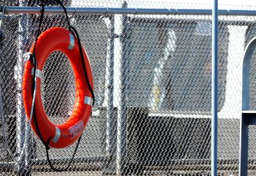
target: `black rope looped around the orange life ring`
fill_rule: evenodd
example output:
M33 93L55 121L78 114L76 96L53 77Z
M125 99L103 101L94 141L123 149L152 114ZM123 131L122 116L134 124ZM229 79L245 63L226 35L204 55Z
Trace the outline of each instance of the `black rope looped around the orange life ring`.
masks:
M76 33L77 40L78 40L78 43L79 43L79 50L80 50L80 54L81 54L81 58L82 58L82 62L83 62L84 76L86 77L86 82L87 82L87 84L88 84L88 87L89 87L89 89L90 89L90 92L92 93L92 96L93 96L93 105L94 105L94 94L93 94L92 86L90 85L90 82L89 82L88 77L87 77L87 74L86 74L86 68L85 68L85 65L84 65L84 55L83 55L83 50L82 50L82 47L81 47L81 41L80 41L80 39L79 39L79 35L78 35L76 29L75 29L74 27L71 27L71 26L70 26L70 22L69 22L69 20L68 20L68 15L67 15L67 10L66 10L65 6L63 6L63 4L61 3L60 0L56 0L56 1L58 1L58 3L60 3L60 5L62 6L62 8L63 8L64 11L65 11L66 18L67 18L67 23L68 23L68 29L69 29L70 31L71 31L71 29L72 29L72 30L74 30L74 32ZM35 69L34 69L34 71L33 71L34 74L33 74L33 82L32 82L32 92L35 91L35 78L36 78L35 76L36 76L36 64L37 64L37 62L36 62L36 55L35 55L36 43L37 43L38 37L39 37L39 35L40 35L40 29L41 29L41 26L42 26L43 18L44 18L44 4L42 3L42 5L41 5L41 16L40 16L38 31L37 31L37 34L36 34L35 45L34 45L34 48L33 48L33 50L32 50L32 56L31 56L31 57L34 57L34 60L35 60L35 62L34 62L34 64L35 64ZM33 58L31 58L31 59L33 59ZM32 95L32 97L33 97L33 95ZM91 114L92 114L92 112L91 112ZM68 162L67 167L66 167L65 169L63 169L63 170L59 170L59 169L57 169L57 168L54 168L54 166L53 166L52 163L51 163L51 159L49 158L49 149L50 149L49 143L50 143L50 141L51 141L52 136L49 136L47 142L45 142L44 139L42 138L42 135L41 135L41 133L40 133L40 129L39 129L39 127L38 127L38 122L37 122L37 119L36 119L36 110L35 110L35 107L34 107L34 109L33 109L33 116L34 116L34 119L35 119L36 131L38 132L38 136L39 136L41 142L42 142L42 143L44 144L44 146L45 146L46 156L47 156L47 161L48 161L48 163L49 163L49 166L50 166L51 169L52 169L53 171L55 171L55 172L67 171L68 168L70 167L70 165L72 164L73 160L74 160L74 157L75 157L75 155L76 155L76 152L77 152L77 149L78 149L78 146L79 146L79 143L80 143L80 141L81 141L81 137L82 137L83 133L81 134L81 136L80 136L79 139L77 140L76 148L75 148L75 150L74 150L74 153L72 154L72 158L71 158L70 161Z

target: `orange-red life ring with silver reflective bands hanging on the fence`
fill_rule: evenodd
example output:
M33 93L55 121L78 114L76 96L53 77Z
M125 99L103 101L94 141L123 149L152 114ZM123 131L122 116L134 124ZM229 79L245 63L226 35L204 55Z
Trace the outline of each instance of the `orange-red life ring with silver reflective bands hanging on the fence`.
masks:
M63 124L52 124L52 122L48 119L47 115L45 114L44 106L42 105L40 92L40 77L45 61L47 57L49 57L49 55L54 51L61 51L67 55L74 70L74 77L76 79L76 101L72 115L70 115L68 120ZM68 145L74 143L83 133L83 130L90 118L93 103L92 93L90 92L86 82L86 77L84 76L83 63L79 52L77 38L70 31L62 27L53 27L48 29L38 37L35 55L37 61L35 110L38 129L44 142L47 142L47 140L51 138L49 146L54 148L67 147ZM83 55L88 80L93 89L92 69L84 48ZM31 112L33 94L33 67L34 66L30 61L26 62L22 85L24 108L28 118ZM58 87L56 87L56 89L58 89ZM38 136L34 117L31 121L31 127Z

